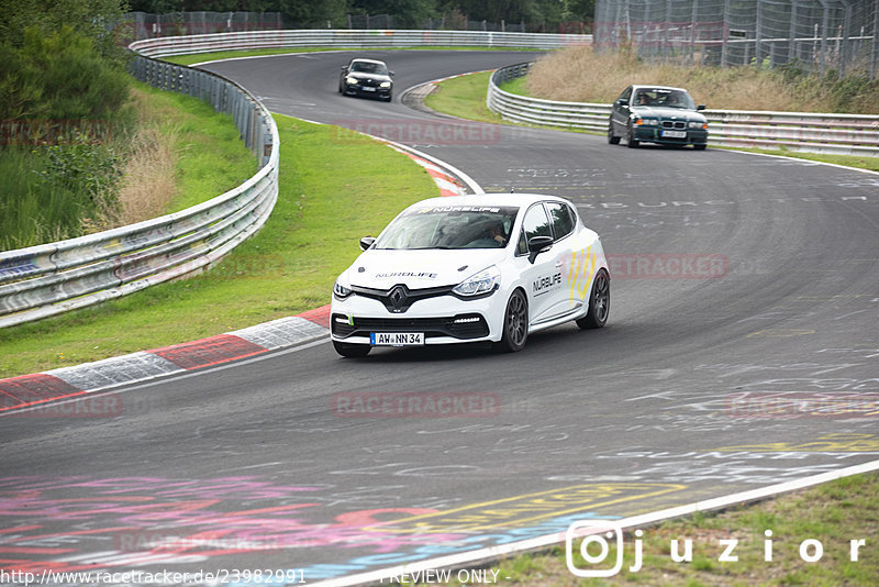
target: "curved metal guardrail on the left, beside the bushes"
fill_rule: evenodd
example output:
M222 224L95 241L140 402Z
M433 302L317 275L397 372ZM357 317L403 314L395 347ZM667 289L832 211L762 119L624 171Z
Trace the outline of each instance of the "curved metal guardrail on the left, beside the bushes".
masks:
M134 76L232 114L259 170L180 212L57 243L0 253L0 328L121 297L215 263L254 234L278 197L278 129L247 90L208 71L135 56Z

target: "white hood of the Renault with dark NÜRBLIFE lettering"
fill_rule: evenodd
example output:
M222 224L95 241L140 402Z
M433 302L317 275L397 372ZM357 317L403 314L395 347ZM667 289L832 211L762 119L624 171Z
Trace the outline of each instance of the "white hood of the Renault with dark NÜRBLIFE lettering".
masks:
M505 248L399 251L370 250L354 262L346 274L352 286L409 289L455 286L471 275L500 263Z

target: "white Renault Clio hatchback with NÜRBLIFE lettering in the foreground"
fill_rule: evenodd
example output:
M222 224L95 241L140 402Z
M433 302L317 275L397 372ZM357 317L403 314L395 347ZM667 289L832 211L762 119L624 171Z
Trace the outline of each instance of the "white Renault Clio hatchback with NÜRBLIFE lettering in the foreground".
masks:
M601 241L561 198L432 198L360 247L333 288L331 336L343 356L479 341L514 352L569 320L583 329L608 321Z

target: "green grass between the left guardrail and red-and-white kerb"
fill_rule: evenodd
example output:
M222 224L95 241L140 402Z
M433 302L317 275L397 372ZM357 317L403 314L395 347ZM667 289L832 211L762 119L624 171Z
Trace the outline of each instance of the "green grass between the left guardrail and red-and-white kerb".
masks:
M0 377L191 341L329 303L336 275L360 252L359 237L436 196L424 169L385 145L334 126L275 119L280 192L259 233L201 276L0 330Z

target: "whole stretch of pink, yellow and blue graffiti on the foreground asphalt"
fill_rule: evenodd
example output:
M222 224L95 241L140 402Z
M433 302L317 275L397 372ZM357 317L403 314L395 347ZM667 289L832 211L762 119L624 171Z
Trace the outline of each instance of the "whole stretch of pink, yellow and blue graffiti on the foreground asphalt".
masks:
M685 488L585 484L442 510L346 511L333 486L257 477L5 477L0 571L167 567L243 553L340 549L340 564L304 567L314 580L563 531L574 519L615 517L596 510Z

